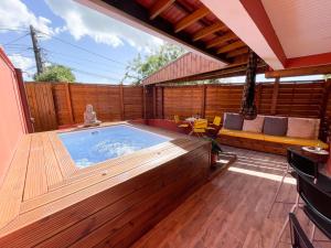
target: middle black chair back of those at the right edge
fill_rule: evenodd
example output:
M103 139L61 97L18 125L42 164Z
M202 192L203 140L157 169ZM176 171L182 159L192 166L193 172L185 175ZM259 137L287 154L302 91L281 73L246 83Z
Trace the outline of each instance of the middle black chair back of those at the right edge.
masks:
M331 239L331 180L320 174L317 184L308 176L298 173L298 193L306 203L303 212L309 219Z

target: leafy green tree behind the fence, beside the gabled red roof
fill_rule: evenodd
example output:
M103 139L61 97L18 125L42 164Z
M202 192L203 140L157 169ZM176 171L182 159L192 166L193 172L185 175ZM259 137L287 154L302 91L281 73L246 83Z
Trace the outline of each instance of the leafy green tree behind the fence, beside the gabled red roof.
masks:
M127 66L122 82L130 78L135 80L134 84L140 84L145 77L153 74L184 53L185 51L182 47L168 43L143 57L139 53Z

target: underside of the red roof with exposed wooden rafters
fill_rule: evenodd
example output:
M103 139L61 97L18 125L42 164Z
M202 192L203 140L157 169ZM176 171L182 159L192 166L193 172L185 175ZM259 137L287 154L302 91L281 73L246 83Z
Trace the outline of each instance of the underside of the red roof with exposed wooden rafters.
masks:
M182 43L225 64L232 64L239 52L246 52L239 50L245 44L201 0L102 1L116 14L125 13L122 18L129 23L137 20L142 30L150 29L152 34L157 32L162 39ZM231 53L234 50L237 51Z

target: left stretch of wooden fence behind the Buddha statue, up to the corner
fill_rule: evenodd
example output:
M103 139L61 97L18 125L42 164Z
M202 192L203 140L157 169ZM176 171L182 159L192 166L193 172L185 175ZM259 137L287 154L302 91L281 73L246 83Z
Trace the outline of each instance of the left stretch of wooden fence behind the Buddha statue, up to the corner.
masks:
M87 104L102 121L143 117L142 87L38 82L26 83L25 89L35 131L82 123Z

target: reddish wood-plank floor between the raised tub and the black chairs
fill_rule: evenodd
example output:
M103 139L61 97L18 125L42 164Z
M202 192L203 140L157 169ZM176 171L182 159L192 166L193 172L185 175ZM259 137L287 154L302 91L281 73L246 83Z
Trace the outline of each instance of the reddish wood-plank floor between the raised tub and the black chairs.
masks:
M291 204L276 204L267 213L286 166L284 157L225 148L237 161L222 176L203 185L174 212L138 240L134 248L271 248ZM224 149L224 150L225 150ZM293 179L288 177L278 201L296 200ZM311 231L305 214L299 222ZM317 230L314 247L330 248ZM279 247L289 247L289 229Z

